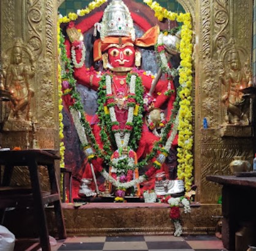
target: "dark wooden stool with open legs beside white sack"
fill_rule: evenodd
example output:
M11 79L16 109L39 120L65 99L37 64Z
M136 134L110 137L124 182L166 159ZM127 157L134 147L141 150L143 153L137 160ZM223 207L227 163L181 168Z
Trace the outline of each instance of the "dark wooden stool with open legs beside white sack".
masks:
M32 206L43 251L51 250L45 216L45 205L48 203L53 203L54 206L59 238L66 238L61 197L55 173L56 159L59 157L42 150L0 151L0 165L4 166L4 175L0 186L0 222L4 217L5 208ZM9 186L15 166L28 166L31 188ZM41 190L38 166L46 166L48 169L50 192Z

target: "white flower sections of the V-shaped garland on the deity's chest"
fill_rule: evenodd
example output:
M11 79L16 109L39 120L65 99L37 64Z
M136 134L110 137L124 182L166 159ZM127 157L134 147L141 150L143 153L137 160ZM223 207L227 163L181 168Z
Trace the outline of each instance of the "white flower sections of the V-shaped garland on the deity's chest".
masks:
M136 75L132 75L130 78L130 94L135 95L135 83L136 83ZM106 76L106 92L107 95L112 95L112 79L110 75ZM115 112L115 107L110 107L110 120L111 122L116 122L116 112ZM134 120L134 107L129 107L128 108L128 115L127 115L127 122L132 123ZM116 140L116 145L118 148L126 148L129 144L130 140L130 132L127 132L124 134L124 140L121 140L120 133L116 132L115 134L115 140Z

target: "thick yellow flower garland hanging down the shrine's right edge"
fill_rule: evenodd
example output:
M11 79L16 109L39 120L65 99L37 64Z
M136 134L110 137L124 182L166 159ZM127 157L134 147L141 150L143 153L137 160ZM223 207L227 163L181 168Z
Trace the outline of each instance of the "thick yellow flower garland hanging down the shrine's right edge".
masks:
M190 191L193 181L193 133L192 133L192 24L190 13L173 13L161 7L156 1L144 0L154 10L159 21L164 18L182 22L181 44L179 45L181 67L179 84L183 87L179 96L181 109L179 112L178 139L178 178L184 180L186 191Z

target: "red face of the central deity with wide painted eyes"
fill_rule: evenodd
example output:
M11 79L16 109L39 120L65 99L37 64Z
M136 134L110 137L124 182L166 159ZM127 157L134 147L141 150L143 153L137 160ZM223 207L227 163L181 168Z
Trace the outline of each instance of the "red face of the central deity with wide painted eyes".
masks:
M135 49L133 46L124 48L111 47L108 49L108 60L112 67L134 67Z

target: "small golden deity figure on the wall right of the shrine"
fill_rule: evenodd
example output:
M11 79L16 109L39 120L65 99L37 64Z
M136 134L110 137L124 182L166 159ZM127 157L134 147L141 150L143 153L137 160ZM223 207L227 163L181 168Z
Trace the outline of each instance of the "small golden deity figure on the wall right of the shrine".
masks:
M248 87L249 78L241 67L238 50L233 46L229 54L229 72L220 76L220 81L225 85L225 94L222 103L227 106L225 122L231 125L248 125L247 109L249 100L245 98L241 90Z

